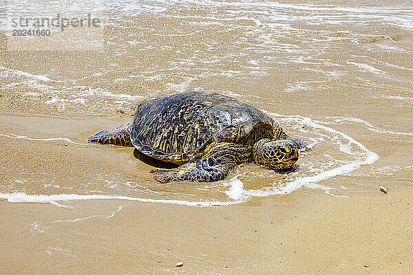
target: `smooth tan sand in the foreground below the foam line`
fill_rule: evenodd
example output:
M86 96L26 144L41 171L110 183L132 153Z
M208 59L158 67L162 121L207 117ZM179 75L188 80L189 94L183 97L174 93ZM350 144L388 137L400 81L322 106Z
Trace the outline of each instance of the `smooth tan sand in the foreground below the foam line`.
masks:
M67 211L1 202L1 268L6 274L408 274L410 192L337 199L302 190L218 208L87 201ZM180 261L184 266L176 267Z

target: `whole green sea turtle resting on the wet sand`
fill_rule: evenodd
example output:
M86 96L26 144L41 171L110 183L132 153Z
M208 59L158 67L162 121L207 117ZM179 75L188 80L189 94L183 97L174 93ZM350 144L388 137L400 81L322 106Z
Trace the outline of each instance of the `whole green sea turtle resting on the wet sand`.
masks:
M288 169L305 146L260 109L199 91L142 102L131 124L100 131L89 142L135 146L149 157L179 165L149 171L162 183L218 181L242 162Z

